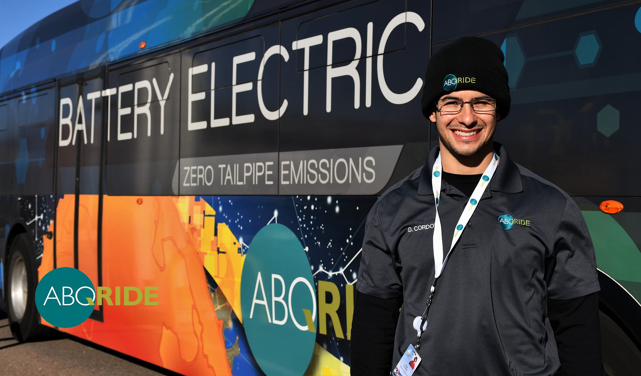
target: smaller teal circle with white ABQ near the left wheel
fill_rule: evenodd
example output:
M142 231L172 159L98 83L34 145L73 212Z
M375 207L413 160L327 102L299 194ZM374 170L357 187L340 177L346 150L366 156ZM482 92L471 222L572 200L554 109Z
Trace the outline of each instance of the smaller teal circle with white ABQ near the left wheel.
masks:
M54 327L71 328L85 322L94 311L94 302L94 284L78 269L53 269L36 287L38 312Z

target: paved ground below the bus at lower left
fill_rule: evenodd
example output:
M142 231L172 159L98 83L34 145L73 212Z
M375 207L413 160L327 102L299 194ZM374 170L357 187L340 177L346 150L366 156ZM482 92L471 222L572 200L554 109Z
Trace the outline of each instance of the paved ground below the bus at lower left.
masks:
M0 311L0 375L178 375L81 339L55 334L48 341L18 343Z

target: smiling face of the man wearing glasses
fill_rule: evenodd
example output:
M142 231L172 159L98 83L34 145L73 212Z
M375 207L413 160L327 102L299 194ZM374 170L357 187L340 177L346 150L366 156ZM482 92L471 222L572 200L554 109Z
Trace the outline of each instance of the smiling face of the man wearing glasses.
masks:
M490 98L476 90L460 90L445 94L439 99L472 99ZM476 112L470 103L464 103L459 112L438 112L434 110L429 120L437 124L438 138L442 145L453 155L471 157L481 150L492 147L492 136L496 130L496 122L501 119L496 110ZM485 148L484 148L485 146Z

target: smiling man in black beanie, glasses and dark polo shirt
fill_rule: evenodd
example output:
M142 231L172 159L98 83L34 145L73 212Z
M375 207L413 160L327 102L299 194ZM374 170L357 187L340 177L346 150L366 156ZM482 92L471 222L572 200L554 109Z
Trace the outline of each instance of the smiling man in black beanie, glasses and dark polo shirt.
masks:
M503 60L477 37L429 60L421 105L439 142L367 219L353 376L389 375L409 345L420 357L413 375L603 372L583 216L493 141L510 111Z

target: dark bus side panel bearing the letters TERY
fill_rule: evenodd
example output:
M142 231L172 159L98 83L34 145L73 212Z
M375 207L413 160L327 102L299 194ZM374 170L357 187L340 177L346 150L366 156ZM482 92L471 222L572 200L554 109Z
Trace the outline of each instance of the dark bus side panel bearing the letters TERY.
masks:
M167 195L178 167L180 55L110 71L106 194Z

